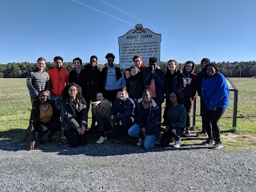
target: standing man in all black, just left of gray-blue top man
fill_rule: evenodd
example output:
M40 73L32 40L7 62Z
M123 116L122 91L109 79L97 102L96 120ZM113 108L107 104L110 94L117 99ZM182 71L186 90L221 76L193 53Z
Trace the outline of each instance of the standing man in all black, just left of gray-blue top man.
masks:
M97 67L97 56L90 57L90 64L84 66L79 77L79 85L82 88L83 98L86 100L87 113L90 109L90 103L96 101L97 92L103 90L102 73ZM95 118L92 116L91 128L95 126Z

